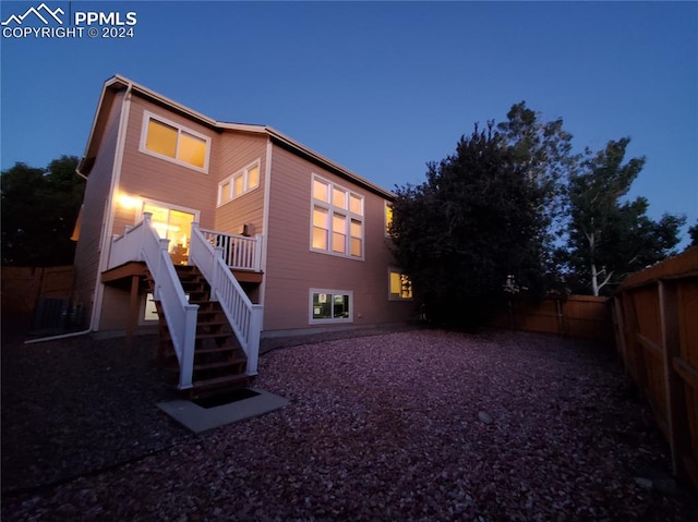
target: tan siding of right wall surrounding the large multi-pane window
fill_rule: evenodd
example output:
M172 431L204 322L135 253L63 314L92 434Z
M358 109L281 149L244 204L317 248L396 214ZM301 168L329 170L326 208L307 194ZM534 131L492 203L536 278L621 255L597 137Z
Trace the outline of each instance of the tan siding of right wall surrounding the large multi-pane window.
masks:
M279 147L272 166L264 330L308 328L311 288L353 291L352 326L406 320L412 304L388 301L384 199ZM310 251L313 173L364 196L365 260Z

